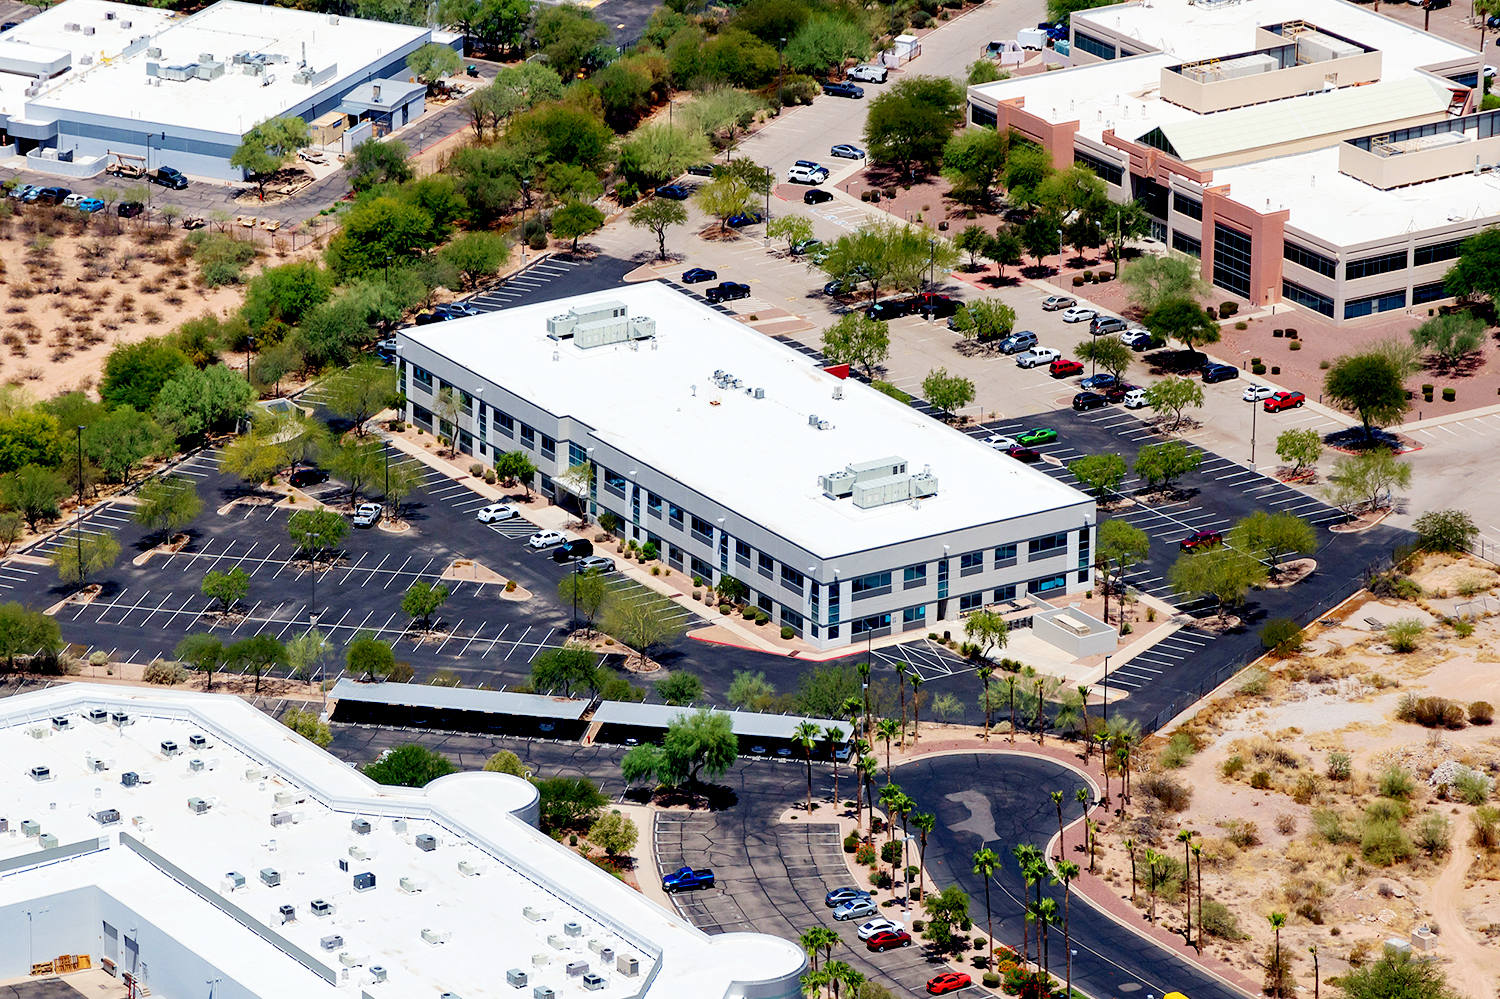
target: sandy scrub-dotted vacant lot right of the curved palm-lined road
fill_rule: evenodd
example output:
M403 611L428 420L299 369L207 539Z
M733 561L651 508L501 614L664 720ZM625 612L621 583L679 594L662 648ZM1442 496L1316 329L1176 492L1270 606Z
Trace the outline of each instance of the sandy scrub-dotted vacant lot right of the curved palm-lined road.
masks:
M1356 992L1398 974L1390 942L1438 956L1460 993L1496 990L1500 570L1398 560L1305 632L1268 632L1272 654L1138 746L1124 789L1110 758L1095 856L1070 837L1143 921L1268 994L1314 974L1398 994Z

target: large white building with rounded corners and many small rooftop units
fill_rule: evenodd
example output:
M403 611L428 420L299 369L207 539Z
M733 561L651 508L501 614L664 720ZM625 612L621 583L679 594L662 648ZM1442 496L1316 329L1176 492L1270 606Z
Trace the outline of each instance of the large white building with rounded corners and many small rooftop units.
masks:
M222 999L800 994L794 944L710 938L536 814L501 774L374 784L232 696L8 698L0 976L82 954Z

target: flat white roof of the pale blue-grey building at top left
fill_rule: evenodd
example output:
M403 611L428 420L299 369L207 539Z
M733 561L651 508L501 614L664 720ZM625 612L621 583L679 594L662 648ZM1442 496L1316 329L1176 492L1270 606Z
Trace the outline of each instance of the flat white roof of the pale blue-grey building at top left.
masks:
M116 20L106 21L106 10L116 10ZM142 124L158 123L208 132L243 134L264 118L282 114L348 78L386 52L398 50L428 36L428 28L360 18L330 16L310 10L240 3L220 3L186 18L159 18L150 8L106 3L104 0L66 0L56 8L36 15L21 27L12 28L16 36L38 44L72 48L74 69L58 76L40 96L28 102L28 118L48 120L63 111L104 114L120 118L136 118ZM98 32L118 32L120 20L134 26L124 34L135 38L152 34L150 46L160 48L160 57L148 58L141 50L132 56L96 58L93 66L80 66L78 54L92 51L94 38L64 32L68 22L92 24ZM42 40L42 39L48 40ZM106 36L112 38L112 36ZM84 42L90 45L84 45ZM123 50L117 45L114 52ZM321 70L338 66L338 72L318 87L292 82L298 63L306 51L308 63ZM111 54L114 54L111 52ZM267 66L274 76L262 86L266 76L246 75L242 66L230 64L236 52L266 52L285 56L286 62ZM147 76L146 63L186 66L198 62L202 54L212 54L214 62L225 63L225 72L218 80L170 81ZM0 80L0 108L20 114L24 100L20 86Z

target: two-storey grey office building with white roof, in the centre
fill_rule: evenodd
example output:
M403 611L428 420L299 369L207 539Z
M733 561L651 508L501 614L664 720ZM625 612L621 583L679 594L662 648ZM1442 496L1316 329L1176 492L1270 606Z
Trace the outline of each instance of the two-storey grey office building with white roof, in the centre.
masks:
M418 428L484 464L524 450L543 492L675 572L734 576L814 646L1090 585L1094 500L662 284L406 328L398 351Z

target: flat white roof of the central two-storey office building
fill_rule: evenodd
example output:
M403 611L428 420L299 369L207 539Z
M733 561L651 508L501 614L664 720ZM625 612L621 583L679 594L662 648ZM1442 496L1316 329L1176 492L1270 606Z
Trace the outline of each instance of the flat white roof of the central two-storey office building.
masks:
M656 320L654 344L584 350L548 338L549 316L616 300L630 316ZM822 558L1089 502L660 282L408 328L400 338L594 428L621 453ZM746 388L717 388L714 370ZM756 387L764 399L748 394ZM831 428L810 426L812 416ZM912 472L930 468L938 494L861 510L819 489L819 476L886 456L906 459Z

